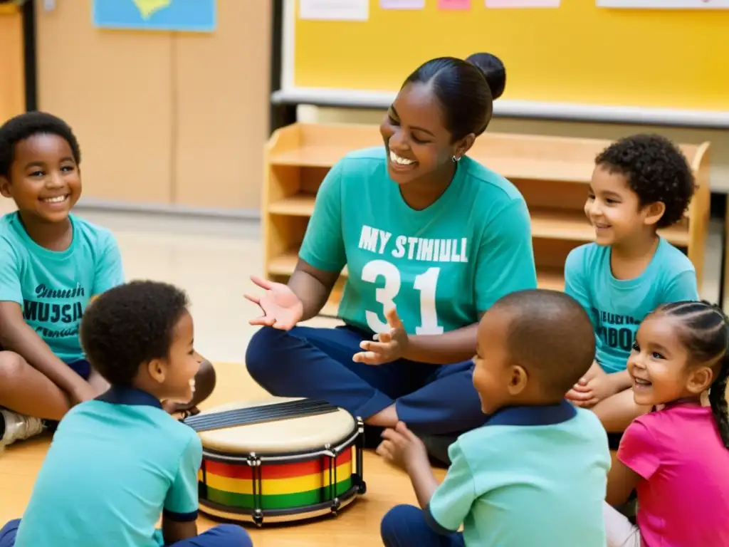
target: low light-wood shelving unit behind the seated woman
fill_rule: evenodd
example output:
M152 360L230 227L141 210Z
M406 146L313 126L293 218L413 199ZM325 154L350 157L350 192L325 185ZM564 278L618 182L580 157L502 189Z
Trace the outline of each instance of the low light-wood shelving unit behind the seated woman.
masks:
M609 144L599 139L486 133L469 156L518 187L531 214L539 287L564 289L569 251L593 241L583 206L595 156ZM295 123L278 129L266 147L263 188L265 275L286 282L297 263L316 191L327 171L358 148L381 146L377 126ZM696 190L685 219L660 233L683 249L703 278L709 222L709 143L682 144L695 172ZM346 268L323 315L336 316Z

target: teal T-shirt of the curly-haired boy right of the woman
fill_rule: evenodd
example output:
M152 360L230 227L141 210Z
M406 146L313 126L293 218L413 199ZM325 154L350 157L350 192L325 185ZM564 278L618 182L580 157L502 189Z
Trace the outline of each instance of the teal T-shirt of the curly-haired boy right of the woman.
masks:
M634 279L615 279L610 247L590 243L572 249L564 265L564 286L592 319L596 360L607 373L625 370L647 314L660 304L699 299L693 263L663 238Z

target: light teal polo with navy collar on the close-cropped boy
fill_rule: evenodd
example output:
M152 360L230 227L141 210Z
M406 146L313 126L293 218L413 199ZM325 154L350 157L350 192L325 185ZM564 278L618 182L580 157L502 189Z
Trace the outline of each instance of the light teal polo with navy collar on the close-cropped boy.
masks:
M590 411L563 401L513 407L461 435L426 506L436 532L467 547L604 547L610 451Z

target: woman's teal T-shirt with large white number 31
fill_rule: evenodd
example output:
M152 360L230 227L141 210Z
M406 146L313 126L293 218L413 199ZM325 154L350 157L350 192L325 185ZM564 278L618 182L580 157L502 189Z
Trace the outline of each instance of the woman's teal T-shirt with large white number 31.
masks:
M391 307L408 334L433 335L537 287L521 193L468 157L445 193L416 211L387 174L384 147L346 155L321 183L300 257L324 271L347 266L339 315L375 333L389 330Z

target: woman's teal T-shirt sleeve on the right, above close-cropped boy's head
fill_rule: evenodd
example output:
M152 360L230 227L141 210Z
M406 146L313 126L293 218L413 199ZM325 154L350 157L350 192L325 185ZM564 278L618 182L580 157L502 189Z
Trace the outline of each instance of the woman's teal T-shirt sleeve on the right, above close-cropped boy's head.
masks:
M486 311L517 290L536 289L531 219L523 199L515 199L488 222L476 264L476 306Z

